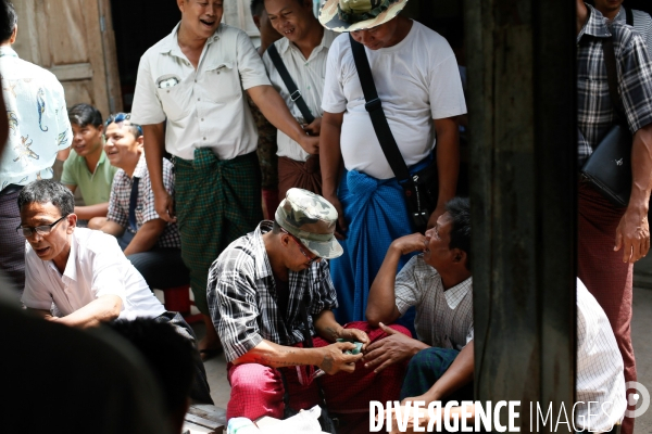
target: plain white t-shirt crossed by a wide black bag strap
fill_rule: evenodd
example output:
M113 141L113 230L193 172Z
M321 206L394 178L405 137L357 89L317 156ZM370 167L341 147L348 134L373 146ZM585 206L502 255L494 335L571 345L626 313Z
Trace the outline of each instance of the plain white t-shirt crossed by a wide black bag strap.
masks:
M453 50L426 26L412 22L408 36L393 47L365 48L389 127L408 166L435 146L432 119L466 113L462 80ZM378 179L393 178L364 107L349 34L328 51L322 108L344 113L340 145L344 166Z

